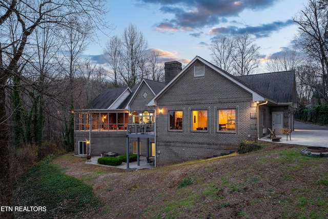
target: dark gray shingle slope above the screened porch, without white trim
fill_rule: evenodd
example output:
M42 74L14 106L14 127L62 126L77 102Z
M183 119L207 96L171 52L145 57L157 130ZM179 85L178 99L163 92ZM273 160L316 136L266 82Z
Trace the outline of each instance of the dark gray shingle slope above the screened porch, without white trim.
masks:
M108 109L126 89L127 87L104 90L92 100L87 109Z

